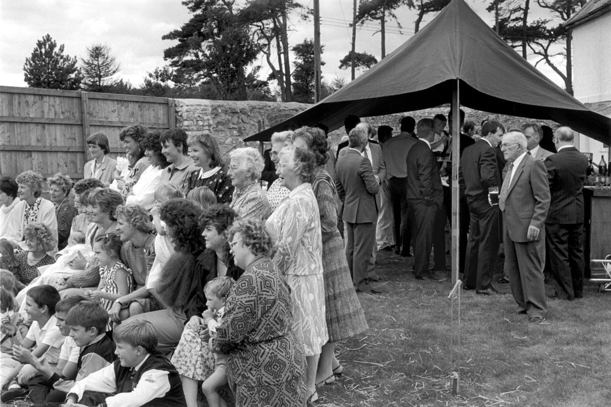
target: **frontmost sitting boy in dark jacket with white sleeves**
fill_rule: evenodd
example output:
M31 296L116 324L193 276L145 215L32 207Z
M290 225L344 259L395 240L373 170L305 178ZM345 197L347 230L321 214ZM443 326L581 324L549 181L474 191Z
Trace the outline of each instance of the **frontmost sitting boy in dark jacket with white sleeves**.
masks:
M119 360L77 381L68 392L66 406L186 405L180 375L163 354L155 350L157 334L152 323L124 322L114 329L113 336ZM104 393L105 400L100 400L99 392Z

